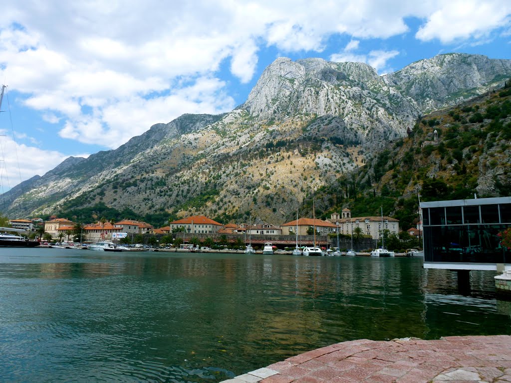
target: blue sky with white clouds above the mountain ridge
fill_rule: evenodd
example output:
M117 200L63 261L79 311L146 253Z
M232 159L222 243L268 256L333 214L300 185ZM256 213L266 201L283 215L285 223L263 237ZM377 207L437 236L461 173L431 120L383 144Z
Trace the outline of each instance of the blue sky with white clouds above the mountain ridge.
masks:
M4 0L0 193L183 113L227 112L278 57L380 75L449 52L511 59L509 0Z

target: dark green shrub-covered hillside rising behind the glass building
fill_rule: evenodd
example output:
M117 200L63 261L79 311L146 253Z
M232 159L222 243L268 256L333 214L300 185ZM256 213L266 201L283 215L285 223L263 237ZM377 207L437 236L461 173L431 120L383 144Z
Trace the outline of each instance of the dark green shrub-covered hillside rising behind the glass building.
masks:
M421 201L437 201L509 196L510 190L511 80L500 90L423 116L408 137L321 188L316 198L335 197L320 212L323 218L344 207L354 217L378 216L383 207L406 230L418 219L417 194Z

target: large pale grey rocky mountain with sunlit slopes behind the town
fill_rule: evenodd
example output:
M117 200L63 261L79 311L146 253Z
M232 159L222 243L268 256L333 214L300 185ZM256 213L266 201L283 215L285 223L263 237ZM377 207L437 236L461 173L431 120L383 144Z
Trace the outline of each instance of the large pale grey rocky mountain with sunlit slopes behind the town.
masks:
M185 114L116 150L69 158L0 208L29 217L102 202L142 215L283 223L426 111L509 77L511 61L477 55L440 55L385 76L363 63L279 58L232 112Z

